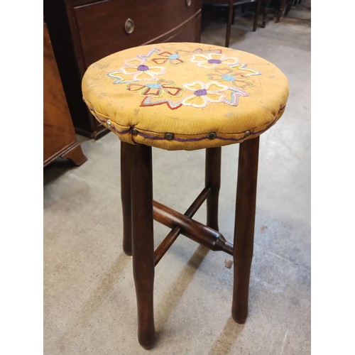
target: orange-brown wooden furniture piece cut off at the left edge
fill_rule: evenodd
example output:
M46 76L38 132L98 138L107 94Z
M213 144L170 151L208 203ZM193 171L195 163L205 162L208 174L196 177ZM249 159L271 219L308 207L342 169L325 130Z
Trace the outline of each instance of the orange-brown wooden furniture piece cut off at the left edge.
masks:
M43 165L62 157L81 165L87 158L77 143L47 26L43 26Z

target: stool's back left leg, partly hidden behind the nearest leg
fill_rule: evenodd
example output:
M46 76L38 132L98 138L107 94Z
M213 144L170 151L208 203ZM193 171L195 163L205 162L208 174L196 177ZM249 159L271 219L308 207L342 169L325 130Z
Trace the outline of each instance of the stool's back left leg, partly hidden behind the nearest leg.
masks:
M121 142L121 201L124 222L124 252L132 255L131 157L133 145Z

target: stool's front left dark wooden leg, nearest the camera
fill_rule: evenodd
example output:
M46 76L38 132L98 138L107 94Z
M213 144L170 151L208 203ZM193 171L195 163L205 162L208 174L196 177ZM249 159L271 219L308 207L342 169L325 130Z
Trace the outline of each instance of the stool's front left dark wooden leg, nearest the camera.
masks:
M141 144L133 146L131 161L132 252L138 341L150 349L155 342L152 148Z

